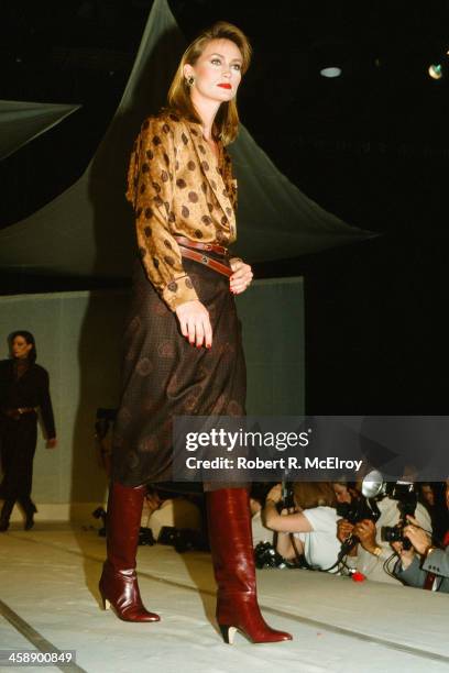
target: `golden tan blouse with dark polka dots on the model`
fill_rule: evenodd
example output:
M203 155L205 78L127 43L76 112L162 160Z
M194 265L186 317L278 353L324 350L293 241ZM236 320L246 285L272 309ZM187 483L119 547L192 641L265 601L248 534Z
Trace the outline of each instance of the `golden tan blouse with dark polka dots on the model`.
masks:
M217 159L200 124L167 112L146 119L131 154L127 198L146 275L164 301L175 310L198 299L173 236L225 246L236 240L237 181L222 144Z

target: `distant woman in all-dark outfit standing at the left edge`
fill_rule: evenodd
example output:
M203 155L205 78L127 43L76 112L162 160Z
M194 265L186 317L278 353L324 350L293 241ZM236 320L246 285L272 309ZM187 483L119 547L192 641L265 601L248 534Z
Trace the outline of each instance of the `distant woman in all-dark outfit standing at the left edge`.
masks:
M0 448L4 500L0 531L9 528L11 511L18 501L25 512L25 530L33 527L36 511L31 499L33 459L37 440L37 407L41 408L47 448L56 445L48 374L35 363L36 346L30 332L13 332L11 358L0 362Z

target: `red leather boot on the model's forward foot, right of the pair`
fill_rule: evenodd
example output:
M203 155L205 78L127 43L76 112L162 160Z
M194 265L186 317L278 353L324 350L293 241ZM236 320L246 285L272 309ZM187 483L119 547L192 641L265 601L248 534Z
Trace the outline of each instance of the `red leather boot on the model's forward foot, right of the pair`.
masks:
M207 494L209 541L218 585L217 621L225 642L236 631L252 642L292 640L269 627L255 592L250 498L245 488L221 488Z

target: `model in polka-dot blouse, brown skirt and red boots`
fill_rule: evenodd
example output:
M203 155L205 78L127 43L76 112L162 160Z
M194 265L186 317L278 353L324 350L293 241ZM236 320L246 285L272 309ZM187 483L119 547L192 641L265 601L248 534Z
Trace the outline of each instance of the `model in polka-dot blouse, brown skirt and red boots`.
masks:
M218 23L185 52L168 109L144 121L127 197L140 261L124 336L123 393L114 428L103 605L125 621L157 621L142 605L135 552L145 484L172 478L174 416L245 413L245 365L232 295L251 267L229 258L237 187L225 148L238 130L234 97L251 48ZM248 489L205 484L218 584L217 620L253 642L289 640L256 600ZM236 486L236 485L234 485Z

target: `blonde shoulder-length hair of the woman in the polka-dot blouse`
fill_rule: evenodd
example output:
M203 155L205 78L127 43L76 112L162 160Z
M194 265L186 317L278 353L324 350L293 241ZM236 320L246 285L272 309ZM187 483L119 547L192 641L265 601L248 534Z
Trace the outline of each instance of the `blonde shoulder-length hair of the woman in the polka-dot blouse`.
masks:
M195 65L207 44L212 40L230 40L230 42L236 44L242 55L242 75L250 67L251 45L247 35L236 25L226 21L219 21L210 29L200 33L184 52L167 96L171 111L195 122L200 122L201 120L191 102L189 86L184 75L184 66L187 64ZM225 145L229 145L229 143L236 140L239 128L236 99L221 103L213 126L216 139L221 140Z

